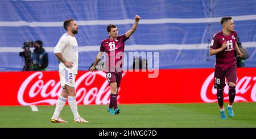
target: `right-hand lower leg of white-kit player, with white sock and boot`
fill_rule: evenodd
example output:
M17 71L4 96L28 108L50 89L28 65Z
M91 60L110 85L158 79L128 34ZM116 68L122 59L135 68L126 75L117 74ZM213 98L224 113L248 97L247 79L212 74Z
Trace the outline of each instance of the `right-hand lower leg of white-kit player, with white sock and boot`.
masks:
M76 103L76 91L75 88L72 86L65 85L65 87L68 90L68 104L69 107L71 108L71 111L73 112L74 115L74 122L75 123L88 123L88 121L84 120L80 115L77 110L77 103Z

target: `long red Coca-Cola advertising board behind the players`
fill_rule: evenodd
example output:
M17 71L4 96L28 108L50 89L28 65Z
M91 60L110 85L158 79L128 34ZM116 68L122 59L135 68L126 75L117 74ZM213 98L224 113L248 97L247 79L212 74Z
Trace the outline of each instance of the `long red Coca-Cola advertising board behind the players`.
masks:
M156 72L156 71L155 71ZM217 102L214 69L159 69L123 73L118 103ZM0 72L0 106L55 105L61 93L59 72ZM228 86L224 89L228 101ZM106 105L110 88L105 72L79 71L76 101L79 105ZM238 68L235 102L256 102L256 68Z

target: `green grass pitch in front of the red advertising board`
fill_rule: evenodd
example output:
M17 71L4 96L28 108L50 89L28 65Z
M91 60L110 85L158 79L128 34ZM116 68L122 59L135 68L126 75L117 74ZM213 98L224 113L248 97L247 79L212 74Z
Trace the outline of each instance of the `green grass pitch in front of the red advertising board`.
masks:
M51 123L55 106L37 107L39 111L32 111L30 106L0 107L0 127L256 127L256 103L234 103L234 118L226 120L220 119L217 103L119 105L119 115L110 115L106 105L78 106L80 115L89 123L73 123L68 105L61 118L69 123Z

